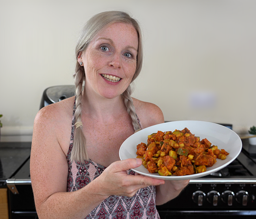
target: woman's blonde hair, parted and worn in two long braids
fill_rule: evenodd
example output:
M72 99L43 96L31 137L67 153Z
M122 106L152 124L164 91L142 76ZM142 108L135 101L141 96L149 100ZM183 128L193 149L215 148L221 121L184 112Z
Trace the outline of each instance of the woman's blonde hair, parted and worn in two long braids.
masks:
M110 26L113 23L121 22L131 24L138 33L138 55L137 55L137 63L135 74L132 78L132 81L138 77L140 70L142 68L142 34L140 30L139 23L133 19L129 14L123 11L106 11L101 12L97 15L94 15L84 26L82 34L78 40L76 45L76 59L79 54L87 49L90 42L94 39L94 37L102 31L104 28ZM79 161L84 162L84 160L88 160L88 155L86 153L86 139L84 137L82 131L82 86L85 80L85 72L84 67L81 66L78 62L76 62L75 68L75 86L76 86L76 110L75 110L75 126L76 133L73 141L73 148L71 153L71 161ZM135 107L132 102L131 97L132 89L129 85L128 88L123 92L123 101L125 107L127 107L127 112L131 116L133 129L137 131L140 126L138 123L138 119L135 113Z

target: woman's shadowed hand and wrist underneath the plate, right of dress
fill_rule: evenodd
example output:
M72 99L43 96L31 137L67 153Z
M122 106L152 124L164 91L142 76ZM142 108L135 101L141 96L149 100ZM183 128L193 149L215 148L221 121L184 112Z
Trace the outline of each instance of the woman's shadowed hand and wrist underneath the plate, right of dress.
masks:
M156 205L165 204L167 201L170 201L177 197L180 192L187 186L189 180L182 180L173 182L172 180L166 180L165 184L158 185L156 187Z

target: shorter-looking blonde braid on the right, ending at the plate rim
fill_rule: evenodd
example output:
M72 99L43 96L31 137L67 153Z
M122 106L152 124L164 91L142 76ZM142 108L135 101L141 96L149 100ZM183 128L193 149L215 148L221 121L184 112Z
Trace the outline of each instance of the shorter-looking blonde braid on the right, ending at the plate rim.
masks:
M124 105L127 108L128 114L132 118L133 129L134 129L134 131L137 131L140 129L140 126L139 126L138 119L136 116L135 107L133 105L131 93L132 93L132 88L131 88L131 85L129 85L128 88L123 93Z

